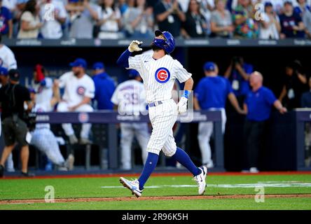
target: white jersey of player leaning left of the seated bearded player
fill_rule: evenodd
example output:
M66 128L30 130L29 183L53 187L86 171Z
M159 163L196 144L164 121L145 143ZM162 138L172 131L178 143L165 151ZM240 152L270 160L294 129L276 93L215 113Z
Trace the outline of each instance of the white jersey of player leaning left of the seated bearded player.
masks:
M46 104L50 102L53 97L53 80L52 78L46 78L46 85L42 86L40 83L35 83L32 80L32 87L36 91L36 104ZM48 104L50 105L50 104ZM52 111L52 107L46 109L46 112Z

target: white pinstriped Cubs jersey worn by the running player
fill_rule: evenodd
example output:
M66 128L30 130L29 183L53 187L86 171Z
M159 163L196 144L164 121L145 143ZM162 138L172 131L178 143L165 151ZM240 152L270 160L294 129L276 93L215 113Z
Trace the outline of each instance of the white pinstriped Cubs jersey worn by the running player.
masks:
M175 80L184 83L192 76L177 59L165 55L153 59L152 55L136 55L128 59L129 68L135 69L144 80L146 101L148 103L172 98Z

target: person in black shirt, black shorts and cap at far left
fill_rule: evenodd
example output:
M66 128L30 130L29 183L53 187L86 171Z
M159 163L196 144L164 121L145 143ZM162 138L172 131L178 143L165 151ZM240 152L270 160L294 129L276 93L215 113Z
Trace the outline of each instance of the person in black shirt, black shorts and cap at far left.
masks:
M19 84L20 73L16 69L9 72L9 83L0 89L1 120L6 147L0 161L0 177L4 176L4 163L11 154L15 144L20 144L22 176L34 176L28 172L29 147L31 136L25 123L25 110L32 109L29 91ZM27 106L27 109L25 107Z

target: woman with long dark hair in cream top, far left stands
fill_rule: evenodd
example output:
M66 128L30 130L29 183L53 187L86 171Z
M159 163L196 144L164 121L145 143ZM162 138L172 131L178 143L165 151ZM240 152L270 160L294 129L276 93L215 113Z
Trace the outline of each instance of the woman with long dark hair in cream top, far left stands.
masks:
M38 38L43 24L39 18L39 5L36 0L29 0L20 18L18 38Z

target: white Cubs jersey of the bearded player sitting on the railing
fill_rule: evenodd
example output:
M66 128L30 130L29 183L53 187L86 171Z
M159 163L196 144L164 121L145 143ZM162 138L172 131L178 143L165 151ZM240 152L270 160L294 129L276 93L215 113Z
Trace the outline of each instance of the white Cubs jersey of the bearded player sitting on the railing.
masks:
M84 74L81 78L77 78L73 71L69 71L60 76L60 88L64 87L64 95L62 99L74 106L81 103L84 97L95 96L95 84L92 78Z

